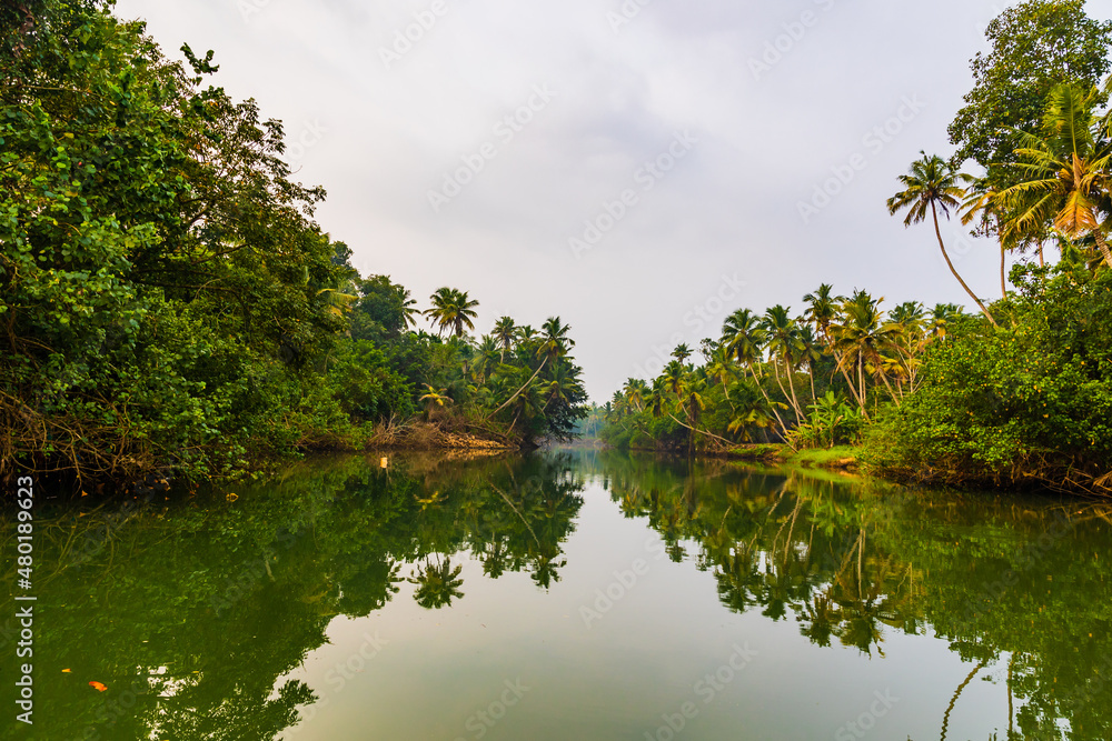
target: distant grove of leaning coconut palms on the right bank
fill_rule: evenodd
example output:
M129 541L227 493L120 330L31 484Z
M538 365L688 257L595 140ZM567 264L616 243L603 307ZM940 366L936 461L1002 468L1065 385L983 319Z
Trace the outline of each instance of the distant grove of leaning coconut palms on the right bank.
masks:
M824 284L804 297L797 318L782 306L759 317L738 309L718 339L703 341L705 363L684 363L681 346L652 385L629 379L604 409L600 437L618 448L689 451L856 442L882 404L919 388L923 353L962 316L914 301L886 313L882 301L866 291L835 296Z

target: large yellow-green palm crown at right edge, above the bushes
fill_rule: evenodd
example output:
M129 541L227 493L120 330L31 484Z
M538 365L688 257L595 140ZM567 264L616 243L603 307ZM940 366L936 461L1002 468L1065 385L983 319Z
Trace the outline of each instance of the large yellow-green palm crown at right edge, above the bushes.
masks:
M1014 211L1012 227L1021 232L1045 223L1071 240L1093 236L1104 262L1112 268L1112 251L1104 239L1102 216L1112 213L1112 142L1108 127L1098 122L1095 90L1073 84L1055 87L1046 102L1041 136L1016 132L1020 182L999 194Z

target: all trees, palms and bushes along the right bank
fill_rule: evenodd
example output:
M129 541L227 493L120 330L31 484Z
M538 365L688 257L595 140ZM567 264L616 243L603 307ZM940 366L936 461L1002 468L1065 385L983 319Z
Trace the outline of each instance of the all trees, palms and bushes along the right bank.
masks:
M822 286L805 311L741 309L703 342L705 363L631 379L607 404L618 447L728 450L865 443L875 471L957 484L1039 484L1112 493L1112 111L1096 84L1112 23L1081 0L1029 0L989 28L976 87L951 127L959 152L929 156L888 202L929 222L979 314ZM979 174L960 169L967 159ZM959 273L940 221L1000 244L1001 298ZM1049 264L1044 244L1061 260ZM1009 253L1022 260L1005 280Z

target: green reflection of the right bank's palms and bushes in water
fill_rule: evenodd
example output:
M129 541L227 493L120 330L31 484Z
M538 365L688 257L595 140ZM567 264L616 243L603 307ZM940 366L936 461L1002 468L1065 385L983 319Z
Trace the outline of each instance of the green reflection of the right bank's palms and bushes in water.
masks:
M1007 739L1112 738L1108 505L1071 502L1056 528L1045 501L637 455L592 464L626 517L695 544L727 608L791 615L817 645L880 657L888 631L930 627L974 678L999 667ZM944 732L967 684L937 709Z

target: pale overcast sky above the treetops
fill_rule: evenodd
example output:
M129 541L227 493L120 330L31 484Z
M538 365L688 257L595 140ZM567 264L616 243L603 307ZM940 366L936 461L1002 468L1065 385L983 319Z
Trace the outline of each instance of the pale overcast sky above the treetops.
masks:
M885 200L972 87L983 0L120 0L285 122L317 221L419 308L572 326L592 399L832 283L972 307ZM1112 0L1091 0L1106 19ZM979 296L995 243L942 233ZM974 307L975 308L975 307Z

